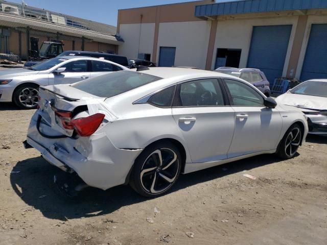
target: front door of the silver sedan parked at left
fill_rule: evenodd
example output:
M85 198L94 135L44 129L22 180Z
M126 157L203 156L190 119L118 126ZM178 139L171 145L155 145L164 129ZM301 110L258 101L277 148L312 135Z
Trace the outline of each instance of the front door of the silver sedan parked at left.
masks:
M90 78L88 60L74 60L63 64L66 70L60 74L49 74L49 84L70 84Z

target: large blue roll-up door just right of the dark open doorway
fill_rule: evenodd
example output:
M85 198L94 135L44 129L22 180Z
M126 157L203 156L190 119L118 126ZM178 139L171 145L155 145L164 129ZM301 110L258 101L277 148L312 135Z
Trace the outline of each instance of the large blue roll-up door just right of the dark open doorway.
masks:
M282 77L292 25L253 27L248 68L261 69L270 85Z

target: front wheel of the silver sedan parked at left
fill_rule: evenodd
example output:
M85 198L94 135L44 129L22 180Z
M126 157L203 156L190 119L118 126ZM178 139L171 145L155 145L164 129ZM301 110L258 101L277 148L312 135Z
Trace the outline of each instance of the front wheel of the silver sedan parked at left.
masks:
M23 84L13 94L14 103L22 109L36 109L38 103L39 86L36 84Z

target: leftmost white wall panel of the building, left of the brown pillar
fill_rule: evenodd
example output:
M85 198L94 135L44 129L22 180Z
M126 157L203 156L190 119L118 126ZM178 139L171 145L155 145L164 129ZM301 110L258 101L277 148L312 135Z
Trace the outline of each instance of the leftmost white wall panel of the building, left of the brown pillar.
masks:
M121 24L120 35L125 42L119 46L119 54L128 58L137 58L138 54L152 57L154 28L155 23Z

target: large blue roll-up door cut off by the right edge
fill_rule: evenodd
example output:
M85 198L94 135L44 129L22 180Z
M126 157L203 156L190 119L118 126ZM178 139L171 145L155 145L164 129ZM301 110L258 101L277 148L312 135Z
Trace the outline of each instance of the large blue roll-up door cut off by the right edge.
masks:
M301 80L327 78L327 24L313 24L309 36Z

